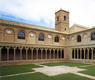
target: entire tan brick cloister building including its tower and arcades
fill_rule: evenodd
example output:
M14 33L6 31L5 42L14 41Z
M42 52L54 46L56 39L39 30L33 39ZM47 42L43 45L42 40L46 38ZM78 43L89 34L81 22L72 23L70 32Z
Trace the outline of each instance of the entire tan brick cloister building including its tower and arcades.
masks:
M63 61L95 63L94 27L69 27L65 10L55 13L55 29L0 20L0 65Z

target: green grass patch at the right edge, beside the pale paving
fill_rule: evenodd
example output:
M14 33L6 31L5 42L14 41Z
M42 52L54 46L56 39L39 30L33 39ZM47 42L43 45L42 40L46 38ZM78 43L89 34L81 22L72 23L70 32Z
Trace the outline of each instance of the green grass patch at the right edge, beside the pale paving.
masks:
M87 67L80 67L80 68L87 69L85 71L80 71L80 73L95 76L95 65L87 66Z

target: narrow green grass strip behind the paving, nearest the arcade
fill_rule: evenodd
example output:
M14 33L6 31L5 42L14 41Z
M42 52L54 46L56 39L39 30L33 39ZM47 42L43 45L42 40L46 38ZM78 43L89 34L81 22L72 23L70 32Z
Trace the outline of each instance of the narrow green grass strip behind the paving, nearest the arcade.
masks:
M70 67L79 67L79 66L84 66L84 65L88 65L88 64L82 64L82 63L72 63L72 62L58 62L58 63L45 63L42 65L46 65L46 66L61 66L61 65L65 65L65 66L70 66Z

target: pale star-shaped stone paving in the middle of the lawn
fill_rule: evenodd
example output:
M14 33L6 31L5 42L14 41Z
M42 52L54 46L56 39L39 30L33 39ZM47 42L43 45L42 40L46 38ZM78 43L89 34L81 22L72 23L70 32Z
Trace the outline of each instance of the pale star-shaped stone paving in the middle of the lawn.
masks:
M68 67L68 66L44 66L41 68L33 68L35 72L41 72L48 76L55 76L64 73L76 73L78 71L83 71L85 69L80 69L77 67Z

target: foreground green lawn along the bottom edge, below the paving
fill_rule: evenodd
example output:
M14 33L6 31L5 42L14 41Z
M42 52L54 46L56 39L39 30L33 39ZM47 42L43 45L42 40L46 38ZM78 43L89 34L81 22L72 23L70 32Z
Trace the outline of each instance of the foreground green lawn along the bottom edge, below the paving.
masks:
M75 74L61 74L57 76L46 76L42 73L24 74L12 77L3 77L0 80L92 80Z

